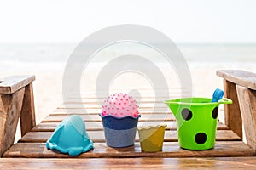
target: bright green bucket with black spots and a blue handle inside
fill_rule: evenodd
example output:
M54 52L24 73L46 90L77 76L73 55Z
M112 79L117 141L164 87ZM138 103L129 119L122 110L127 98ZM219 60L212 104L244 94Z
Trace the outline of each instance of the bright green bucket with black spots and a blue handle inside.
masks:
M209 150L214 147L218 105L231 104L230 99L211 102L208 98L166 100L177 120L178 142L187 150Z

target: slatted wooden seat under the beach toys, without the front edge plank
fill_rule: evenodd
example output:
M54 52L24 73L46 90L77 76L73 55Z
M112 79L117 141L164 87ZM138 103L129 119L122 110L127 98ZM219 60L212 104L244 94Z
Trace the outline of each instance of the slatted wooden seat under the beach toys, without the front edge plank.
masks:
M175 91L173 92L175 93ZM86 100L84 95L84 100ZM90 96L90 95L89 95ZM91 96L90 96L91 97ZM57 109L47 116L41 123L33 127L31 132L26 133L17 144L14 144L9 150L7 150L3 157L34 157L34 158L61 158L71 157L66 154L61 154L55 150L47 150L45 148L45 142L51 134L54 132L55 127L63 119L69 115L79 115L84 119L87 133L90 139L95 144L95 149L90 150L87 153L83 153L79 158L110 158L110 157L207 157L207 156L254 156L253 150L251 150L246 144L241 141L241 138L230 130L229 127L223 123L218 122L218 131L216 135L216 146L213 150L205 151L191 151L183 150L179 147L177 142L177 126L175 117L169 111L166 105L156 105L156 110L159 112L152 113L153 108L150 105L154 105L154 101L150 102L150 98L146 99L147 103L143 103L140 108L141 118L139 119L139 125L142 124L158 124L164 122L167 124L163 150L158 153L142 152L136 136L136 144L128 148L110 148L105 143L104 131L102 127L102 119L98 115L101 111L101 105L97 105L92 102L90 105L86 105L87 113L83 113L84 102L80 104L67 103L67 112L63 113L65 109L64 105L60 105ZM157 100L162 102L163 100ZM153 106L152 106L153 107ZM95 111L93 111L95 110ZM78 112L76 112L78 111Z

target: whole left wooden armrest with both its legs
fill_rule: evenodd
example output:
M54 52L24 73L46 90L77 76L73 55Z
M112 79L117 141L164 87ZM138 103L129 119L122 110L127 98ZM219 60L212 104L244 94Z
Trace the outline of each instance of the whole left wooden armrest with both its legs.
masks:
M0 156L14 144L20 118L21 136L36 125L32 81L34 76L0 80Z

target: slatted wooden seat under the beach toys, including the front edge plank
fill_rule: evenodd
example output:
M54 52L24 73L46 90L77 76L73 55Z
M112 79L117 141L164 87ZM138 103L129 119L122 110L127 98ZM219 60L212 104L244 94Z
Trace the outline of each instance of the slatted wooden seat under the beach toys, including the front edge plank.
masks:
M172 93L175 95L177 92L173 90ZM242 141L240 128L234 125L235 122L229 122L230 124L218 122L214 149L201 151L181 149L177 142L175 117L166 105L162 105L164 99L164 97L158 99L154 99L153 96L144 97L140 107L142 116L139 119L139 125L159 122L167 124L163 150L160 152L143 152L140 149L138 136L134 146L108 147L105 143L101 117L98 115L101 105L98 105L93 94L84 94L81 101L72 97L68 102L59 105L42 122L22 135L17 144L12 144L8 150L4 150L3 158L0 159L0 168L256 168L255 150ZM156 109L152 113L156 103L159 105L155 106ZM45 142L54 132L55 127L64 118L74 114L84 119L86 131L95 148L75 157L57 150L48 150ZM225 116L227 114L225 112Z

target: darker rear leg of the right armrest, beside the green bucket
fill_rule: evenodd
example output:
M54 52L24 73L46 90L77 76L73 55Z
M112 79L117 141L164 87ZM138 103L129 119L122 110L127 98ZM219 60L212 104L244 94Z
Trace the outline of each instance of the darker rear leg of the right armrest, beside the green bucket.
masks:
M233 101L232 105L224 105L225 124L242 139L241 111L235 83L224 80L224 97Z

